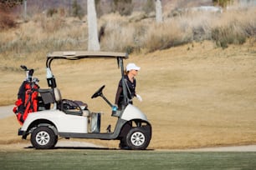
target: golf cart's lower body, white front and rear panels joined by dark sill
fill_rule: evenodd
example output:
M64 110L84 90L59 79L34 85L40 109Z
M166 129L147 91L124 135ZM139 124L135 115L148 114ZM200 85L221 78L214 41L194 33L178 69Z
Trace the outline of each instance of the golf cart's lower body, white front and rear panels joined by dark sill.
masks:
M120 134L120 129L126 122L132 120L141 120L148 122L146 115L137 107L129 104L125 107L125 111L118 119L114 133L88 133L88 117L69 115L58 109L29 113L23 127L22 132L28 132L33 122L41 120L41 123L51 122L56 128L59 136L64 138L99 138L99 139L115 139ZM46 124L47 125L47 124Z

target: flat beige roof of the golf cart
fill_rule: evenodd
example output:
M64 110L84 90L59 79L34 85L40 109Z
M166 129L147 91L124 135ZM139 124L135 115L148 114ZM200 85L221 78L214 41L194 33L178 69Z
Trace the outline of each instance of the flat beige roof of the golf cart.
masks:
M128 58L125 52L93 52L93 51L63 51L63 52L49 52L47 55L48 60L53 59L68 59L78 60L82 58Z

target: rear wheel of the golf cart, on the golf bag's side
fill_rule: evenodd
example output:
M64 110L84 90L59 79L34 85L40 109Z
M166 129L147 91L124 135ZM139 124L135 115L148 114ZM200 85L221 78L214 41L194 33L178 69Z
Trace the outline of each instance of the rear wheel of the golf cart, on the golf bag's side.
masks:
M58 141L58 136L55 135L53 129L49 127L38 127L33 130L30 141L33 148L49 149L54 148Z

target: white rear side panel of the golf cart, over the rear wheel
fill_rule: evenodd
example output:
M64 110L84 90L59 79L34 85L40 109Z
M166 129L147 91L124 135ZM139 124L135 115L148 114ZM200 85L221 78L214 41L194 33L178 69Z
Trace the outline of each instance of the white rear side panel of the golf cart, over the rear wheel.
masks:
M68 115L59 110L29 113L21 130L26 131L30 123L38 119L53 122L59 133L88 133L88 117Z

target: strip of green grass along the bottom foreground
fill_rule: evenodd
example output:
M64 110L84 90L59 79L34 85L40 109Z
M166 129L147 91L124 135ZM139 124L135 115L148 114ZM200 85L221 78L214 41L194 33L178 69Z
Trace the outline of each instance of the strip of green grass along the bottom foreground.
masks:
M0 153L1 169L254 169L256 153L88 149Z

